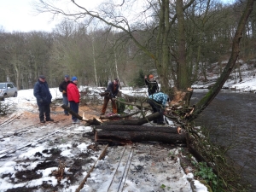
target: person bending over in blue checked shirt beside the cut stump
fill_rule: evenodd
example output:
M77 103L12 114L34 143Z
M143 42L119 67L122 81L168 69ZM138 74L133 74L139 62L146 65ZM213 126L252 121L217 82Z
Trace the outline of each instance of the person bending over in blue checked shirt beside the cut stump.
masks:
M153 109L154 113L160 113L160 117L157 120L154 120L154 123L157 123L159 125L165 125L164 113L167 102L169 102L169 96L167 96L165 93L158 92L149 96L148 103Z

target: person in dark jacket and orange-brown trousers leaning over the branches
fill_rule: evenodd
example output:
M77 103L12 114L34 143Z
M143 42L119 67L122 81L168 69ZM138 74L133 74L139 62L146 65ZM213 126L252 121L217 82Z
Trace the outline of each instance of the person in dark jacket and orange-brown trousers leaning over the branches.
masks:
M104 96L104 103L103 103L103 107L102 107L102 113L101 115L104 115L106 112L106 109L108 107L108 101L109 99L112 102L112 110L113 113L117 113L117 105L115 102L115 96L117 96L117 94L119 93L119 79L114 79L113 82L108 84L108 88L105 92L108 92L109 95L108 96Z

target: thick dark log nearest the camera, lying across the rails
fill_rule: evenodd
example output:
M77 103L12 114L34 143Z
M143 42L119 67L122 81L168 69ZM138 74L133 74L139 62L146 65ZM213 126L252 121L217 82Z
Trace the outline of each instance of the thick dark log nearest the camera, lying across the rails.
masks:
M116 142L116 143L136 143L143 141L163 142L163 143L186 143L186 134L158 132L154 131L103 131L96 130L96 142Z

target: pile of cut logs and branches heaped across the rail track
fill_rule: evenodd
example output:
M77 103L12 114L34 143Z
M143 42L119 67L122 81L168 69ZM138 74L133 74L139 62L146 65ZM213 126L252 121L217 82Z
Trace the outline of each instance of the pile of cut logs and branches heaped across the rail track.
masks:
M104 92L100 94L101 96L108 96L108 93ZM117 100L119 102L119 100ZM120 101L121 102L121 101ZM136 113L142 113L143 109L146 108L148 110L147 105L143 105L145 103L140 104L132 104L126 103L129 105L135 105L140 108L140 111ZM146 107L147 106L147 107ZM61 106L65 108L69 113L75 115L78 119L83 119L79 116L79 114L73 113L73 111L67 106ZM193 109L183 108L182 106L171 106L166 108L166 116L177 117L180 116L180 113L183 115L187 115L191 113ZM178 111L178 114L177 114ZM152 113L148 116L144 116L140 119L127 119L131 117L131 114L119 115L102 115L100 119L86 119L86 125L93 125L94 127L94 139L96 142L111 142L111 143L136 143L136 142L163 142L163 143L187 143L186 133L182 132L181 127L179 126L143 126L146 123L153 121L154 119L158 119L160 117L160 113ZM107 121L102 121L102 119L108 119Z

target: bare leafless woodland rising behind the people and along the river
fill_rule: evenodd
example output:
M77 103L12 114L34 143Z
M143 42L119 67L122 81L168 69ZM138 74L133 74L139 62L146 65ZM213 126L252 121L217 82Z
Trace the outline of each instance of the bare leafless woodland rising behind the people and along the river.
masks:
M31 89L44 74L49 87L57 87L69 74L77 76L80 85L106 86L118 78L123 86L137 87L143 85L144 75L153 73L170 98L185 93L183 103L188 107L191 85L207 82L212 64L218 63L217 82L184 119L189 132L189 123L218 95L232 70L239 71L238 60L255 58L253 0L120 0L102 2L93 10L79 1L61 6L57 2L34 1L38 13L63 17L53 32L1 30L1 81ZM199 139L192 129L190 133ZM206 161L223 163L211 155L203 154ZM229 175L229 167L222 165L225 169L220 167L219 174ZM230 183L236 185L235 180Z

